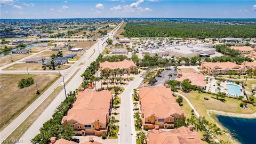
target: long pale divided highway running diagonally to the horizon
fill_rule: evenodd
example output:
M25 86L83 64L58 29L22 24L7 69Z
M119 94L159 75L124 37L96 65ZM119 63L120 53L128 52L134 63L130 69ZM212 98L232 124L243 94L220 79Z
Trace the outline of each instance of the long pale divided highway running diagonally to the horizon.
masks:
M118 25L118 27L120 27L121 24ZM117 28L114 30L117 30ZM115 35L116 31L114 30L108 34L109 38L113 38L113 36ZM106 39L107 38L103 39L103 41L100 40L99 42L94 44L88 51L86 51L86 53L81 57L81 59L78 60L78 62L74 63L72 67L62 71L63 77L65 78L65 81L67 81L71 76L73 76L73 74L75 74L77 69L81 68L67 84L67 92L74 91L82 83L81 75L83 74L84 70L90 65L90 63L97 59L99 51L100 53L103 51L104 47L106 46L103 46L103 43L106 41ZM81 62L83 62L84 65L79 66ZM53 85L51 85L49 89L47 89L38 99L36 99L25 111L23 111L8 126L6 126L5 129L0 132L1 140L6 139L23 121L25 121L25 119L31 113L33 113L33 111L39 105L41 105L41 103L52 93L52 91L62 83L63 82L61 77ZM36 119L36 121L29 127L26 133L22 136L21 139L23 140L23 143L30 143L30 140L34 138L37 133L39 133L39 129L43 126L43 123L45 123L48 119L51 118L52 114L54 113L54 110L60 105L61 101L63 101L64 99L65 94L62 90L53 100L53 102L43 111L43 113Z

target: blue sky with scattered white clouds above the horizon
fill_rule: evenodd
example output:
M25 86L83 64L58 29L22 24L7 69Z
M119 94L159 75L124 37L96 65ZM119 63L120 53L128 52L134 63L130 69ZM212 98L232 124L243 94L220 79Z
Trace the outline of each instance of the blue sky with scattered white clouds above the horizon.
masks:
M256 1L0 0L1 18L256 18Z

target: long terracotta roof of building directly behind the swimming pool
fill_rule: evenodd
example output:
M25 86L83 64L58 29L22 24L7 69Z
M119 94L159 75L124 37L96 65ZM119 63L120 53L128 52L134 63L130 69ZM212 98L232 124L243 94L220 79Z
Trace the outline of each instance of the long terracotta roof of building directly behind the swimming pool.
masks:
M209 67L211 69L241 69L243 68L240 65L237 65L234 62L203 62L203 67Z

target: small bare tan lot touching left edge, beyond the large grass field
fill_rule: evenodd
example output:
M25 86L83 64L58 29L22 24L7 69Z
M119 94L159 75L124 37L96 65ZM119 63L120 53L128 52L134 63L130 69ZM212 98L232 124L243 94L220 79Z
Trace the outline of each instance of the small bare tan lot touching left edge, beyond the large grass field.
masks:
M0 66L7 65L13 61L20 60L22 58L28 57L30 54L12 54L11 55L5 55L4 57L0 57Z

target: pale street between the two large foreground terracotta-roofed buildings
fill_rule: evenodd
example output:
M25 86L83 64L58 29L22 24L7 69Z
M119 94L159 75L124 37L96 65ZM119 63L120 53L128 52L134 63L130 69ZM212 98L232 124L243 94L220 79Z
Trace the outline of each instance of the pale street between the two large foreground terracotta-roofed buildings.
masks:
M133 89L137 89L142 81L142 77L137 75L134 80L125 88L121 95L121 117L120 117L120 130L119 130L119 143L136 143L136 131L134 127L133 118L133 102L132 93Z

